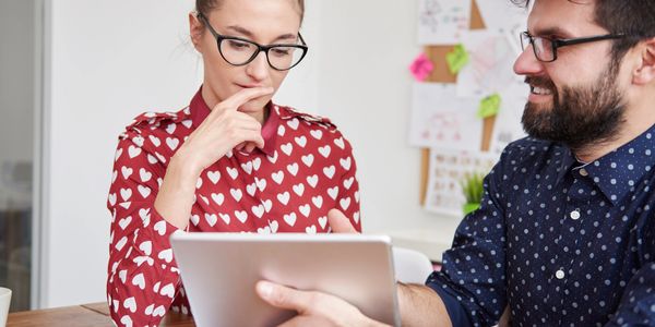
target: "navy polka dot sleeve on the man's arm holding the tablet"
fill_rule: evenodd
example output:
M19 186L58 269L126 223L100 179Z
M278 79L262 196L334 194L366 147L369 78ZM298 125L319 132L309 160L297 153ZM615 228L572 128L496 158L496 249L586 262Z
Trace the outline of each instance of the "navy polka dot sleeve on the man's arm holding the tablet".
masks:
M495 325L507 304L505 226L500 192L504 157L507 150L485 178L479 209L457 227L452 247L443 254L441 271L432 272L426 282L442 298L453 326Z

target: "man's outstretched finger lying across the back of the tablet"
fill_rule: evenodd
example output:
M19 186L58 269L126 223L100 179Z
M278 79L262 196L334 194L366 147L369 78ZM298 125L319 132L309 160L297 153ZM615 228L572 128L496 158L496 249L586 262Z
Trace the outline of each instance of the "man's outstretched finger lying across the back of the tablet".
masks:
M297 291L270 281L258 281L255 290L262 300L276 307L302 313L307 310L306 305L312 305L309 303L309 295L306 292Z

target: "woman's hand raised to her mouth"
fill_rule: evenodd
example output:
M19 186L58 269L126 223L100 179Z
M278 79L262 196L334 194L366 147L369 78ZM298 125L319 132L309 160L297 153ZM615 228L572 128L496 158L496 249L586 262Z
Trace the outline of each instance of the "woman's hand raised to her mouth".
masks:
M212 109L176 154L176 159L187 162L200 173L233 148L250 153L263 148L262 124L247 113L238 111L246 102L273 93L271 87L245 88L223 100Z

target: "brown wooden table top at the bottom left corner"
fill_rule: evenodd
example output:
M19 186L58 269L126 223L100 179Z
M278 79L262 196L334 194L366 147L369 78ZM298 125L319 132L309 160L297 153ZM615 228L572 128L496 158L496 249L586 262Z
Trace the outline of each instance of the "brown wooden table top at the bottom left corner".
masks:
M109 317L107 303L90 303L45 310L23 311L9 314L7 326L114 326ZM193 317L169 312L159 326L191 327L195 326Z

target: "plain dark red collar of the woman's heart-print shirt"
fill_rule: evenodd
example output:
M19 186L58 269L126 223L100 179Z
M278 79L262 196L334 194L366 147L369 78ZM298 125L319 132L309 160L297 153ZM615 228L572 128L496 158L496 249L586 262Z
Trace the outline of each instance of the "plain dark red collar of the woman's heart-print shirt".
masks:
M277 106L273 105L272 101L266 104L264 110L269 110L269 118L262 126L262 137L264 138L264 148L261 149L266 156L273 157L277 143L277 128L279 125L279 111L274 110ZM198 129L200 124L207 118L212 111L205 100L202 98L202 86L191 99L189 105L191 111L191 121L193 123L193 130Z

